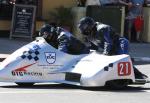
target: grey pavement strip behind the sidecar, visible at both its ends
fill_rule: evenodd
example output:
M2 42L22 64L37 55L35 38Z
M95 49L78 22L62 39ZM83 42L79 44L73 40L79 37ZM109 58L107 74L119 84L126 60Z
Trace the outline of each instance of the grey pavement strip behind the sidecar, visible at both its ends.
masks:
M0 37L0 61L29 42L31 40ZM150 63L150 43L131 43L129 54L135 61L147 61Z

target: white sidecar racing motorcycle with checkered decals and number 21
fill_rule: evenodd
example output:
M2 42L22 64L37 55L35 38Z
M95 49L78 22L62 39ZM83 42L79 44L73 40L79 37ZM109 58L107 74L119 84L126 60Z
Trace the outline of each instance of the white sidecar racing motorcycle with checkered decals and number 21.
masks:
M135 79L129 55L106 56L96 51L71 55L55 49L45 39L38 37L2 61L0 82L13 82L20 86L52 82L82 87L121 88L148 81Z

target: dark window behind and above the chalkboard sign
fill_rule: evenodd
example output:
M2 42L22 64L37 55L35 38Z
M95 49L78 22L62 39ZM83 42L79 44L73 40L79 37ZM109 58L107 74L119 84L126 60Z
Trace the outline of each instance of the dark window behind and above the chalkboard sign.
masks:
M41 19L42 0L0 0L0 19L11 19L14 4L35 5L36 18Z

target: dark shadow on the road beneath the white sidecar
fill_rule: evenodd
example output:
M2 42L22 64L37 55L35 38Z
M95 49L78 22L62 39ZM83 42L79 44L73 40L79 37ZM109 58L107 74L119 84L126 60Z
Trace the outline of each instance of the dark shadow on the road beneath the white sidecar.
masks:
M7 85L7 86L0 86L1 88L11 88L11 89L66 89L66 90L87 90L87 91L106 91L106 92L146 92L147 90L150 91L150 88L145 88L144 86L127 86L122 89L114 89L108 87L80 87L68 84L35 84L33 86L26 86L20 87L18 85Z

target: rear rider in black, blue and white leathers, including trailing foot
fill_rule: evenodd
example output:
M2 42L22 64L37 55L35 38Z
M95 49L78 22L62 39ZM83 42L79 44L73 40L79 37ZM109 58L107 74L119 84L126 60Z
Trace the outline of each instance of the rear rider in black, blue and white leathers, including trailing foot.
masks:
M129 41L124 37L120 37L109 25L95 22L91 17L83 17L79 21L78 28L90 44L90 47L94 45L97 50L103 48L104 55L129 53ZM138 79L147 78L135 67L134 72L135 77Z

